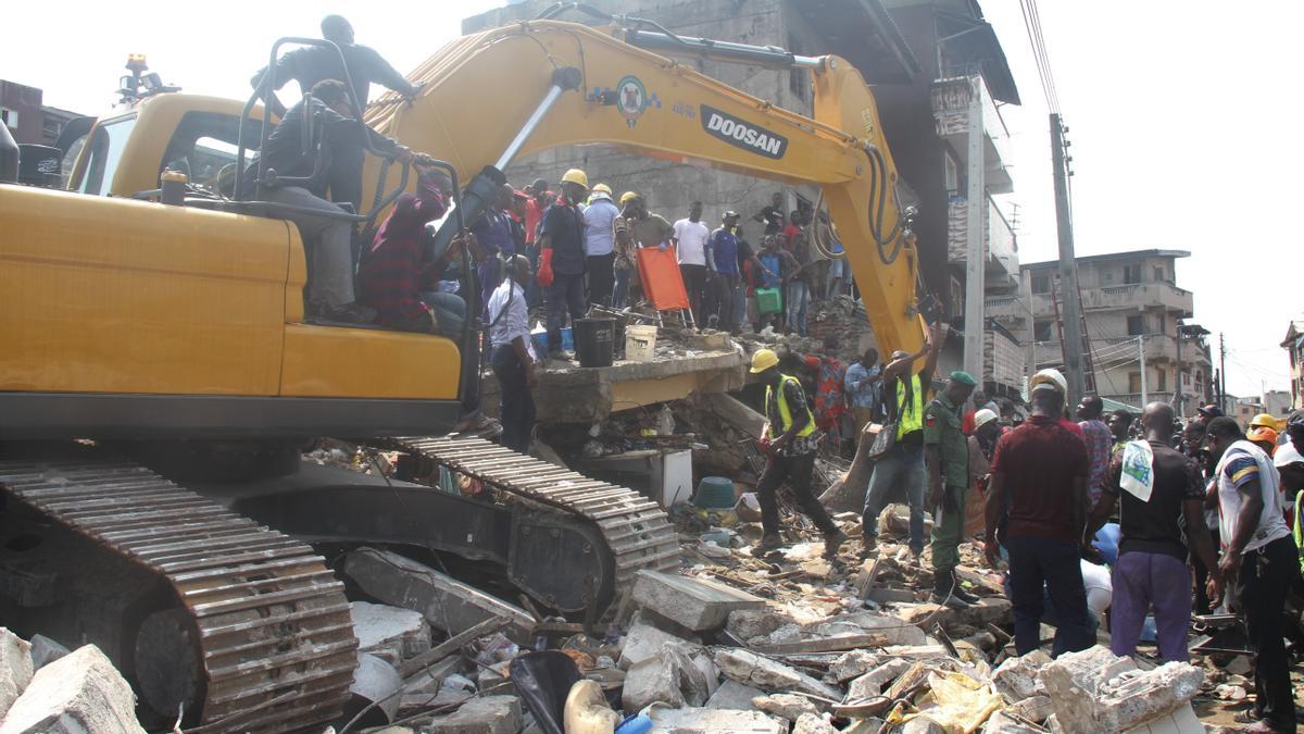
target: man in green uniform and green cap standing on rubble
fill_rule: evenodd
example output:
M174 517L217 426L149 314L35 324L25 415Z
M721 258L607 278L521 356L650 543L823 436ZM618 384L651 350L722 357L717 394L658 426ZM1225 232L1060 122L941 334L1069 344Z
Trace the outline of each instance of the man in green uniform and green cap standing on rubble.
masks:
M956 582L960 541L965 535L965 495L969 488L969 440L960 415L978 381L955 371L923 411L923 456L928 466L928 505L932 508L932 602L962 609L978 601Z

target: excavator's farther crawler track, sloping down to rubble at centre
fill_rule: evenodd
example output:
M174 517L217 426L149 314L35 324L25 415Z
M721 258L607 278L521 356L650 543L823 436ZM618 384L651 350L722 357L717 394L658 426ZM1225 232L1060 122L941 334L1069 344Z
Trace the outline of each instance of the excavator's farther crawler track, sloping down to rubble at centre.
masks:
M679 566L679 537L665 511L634 490L477 438L396 438L387 443L509 495L592 522L615 562L615 596L605 610L591 611L605 611L606 616L617 613L622 594L632 588L640 569L669 571Z

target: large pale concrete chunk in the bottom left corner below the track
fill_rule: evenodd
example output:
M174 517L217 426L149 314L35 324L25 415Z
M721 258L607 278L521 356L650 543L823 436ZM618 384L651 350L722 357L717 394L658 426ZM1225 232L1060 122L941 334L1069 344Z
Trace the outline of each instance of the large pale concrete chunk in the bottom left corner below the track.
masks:
M95 645L42 667L0 722L0 734L145 734L136 695Z

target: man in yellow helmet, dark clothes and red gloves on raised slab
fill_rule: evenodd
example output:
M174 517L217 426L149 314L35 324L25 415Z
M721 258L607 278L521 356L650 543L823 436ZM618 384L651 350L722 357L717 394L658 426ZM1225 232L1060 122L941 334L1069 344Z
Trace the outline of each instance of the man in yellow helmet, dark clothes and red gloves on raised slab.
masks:
M588 196L588 176L579 168L562 175L562 195L539 225L539 285L548 306L548 357L569 360L562 327L584 317L584 218L576 204Z

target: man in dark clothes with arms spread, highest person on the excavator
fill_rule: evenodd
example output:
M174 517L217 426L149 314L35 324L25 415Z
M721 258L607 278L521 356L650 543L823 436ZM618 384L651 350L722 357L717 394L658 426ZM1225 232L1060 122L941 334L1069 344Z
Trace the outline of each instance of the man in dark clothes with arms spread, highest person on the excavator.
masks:
M389 61L368 46L353 43L353 26L343 16L326 16L322 18L322 38L339 47L339 54L334 48L323 46L306 46L295 48L280 59L274 67L263 67L249 80L254 89L261 90L263 77L271 71L271 89L279 90L286 82L295 80L299 89L308 93L318 82L325 80L348 80L352 82L349 91L357 101L357 108L366 110L366 98L370 95L372 84L381 84L387 89L398 91L403 97L412 99L421 90L421 85L413 85L403 78ZM344 56L344 68L339 65L340 55ZM346 73L347 72L347 73ZM286 116L286 107L280 104L274 94L269 94L267 108L278 118ZM346 102L343 115L352 118L352 107ZM349 155L336 154L330 170L330 200L338 204L352 204L353 212L361 213L363 202L363 161L364 152L357 149Z

